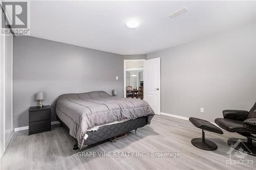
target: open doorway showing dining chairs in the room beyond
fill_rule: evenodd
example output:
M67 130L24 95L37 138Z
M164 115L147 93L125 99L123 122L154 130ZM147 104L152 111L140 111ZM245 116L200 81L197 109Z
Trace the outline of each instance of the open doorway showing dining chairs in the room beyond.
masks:
M124 60L124 98L143 100L144 60Z

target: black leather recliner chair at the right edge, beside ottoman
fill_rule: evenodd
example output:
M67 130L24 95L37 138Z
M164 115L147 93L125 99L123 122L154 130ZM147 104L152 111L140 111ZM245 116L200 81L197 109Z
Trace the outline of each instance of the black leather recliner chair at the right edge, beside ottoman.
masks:
M216 118L215 123L228 132L237 132L245 137L228 139L227 143L236 150L256 156L256 103L248 112L246 110L223 110L224 118ZM242 141L242 142L241 142ZM241 150L242 149L242 150Z

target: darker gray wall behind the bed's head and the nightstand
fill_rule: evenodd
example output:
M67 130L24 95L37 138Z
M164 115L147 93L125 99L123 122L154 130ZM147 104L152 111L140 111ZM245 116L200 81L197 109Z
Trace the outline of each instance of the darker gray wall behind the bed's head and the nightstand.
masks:
M63 93L112 89L123 96L121 55L35 37L13 38L14 128L28 126L37 91L44 91L44 104L51 105Z

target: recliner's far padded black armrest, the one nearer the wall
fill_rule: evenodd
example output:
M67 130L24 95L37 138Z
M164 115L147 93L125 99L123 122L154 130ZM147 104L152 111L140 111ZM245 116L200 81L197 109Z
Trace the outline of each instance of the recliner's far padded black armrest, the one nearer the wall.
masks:
M223 110L222 113L224 118L240 121L244 121L249 114L246 110Z

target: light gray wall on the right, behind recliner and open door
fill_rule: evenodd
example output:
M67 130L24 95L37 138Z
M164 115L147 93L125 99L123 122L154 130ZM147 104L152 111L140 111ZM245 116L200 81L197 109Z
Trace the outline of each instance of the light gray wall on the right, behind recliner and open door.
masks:
M255 25L147 55L161 57L161 112L214 122L256 102ZM204 107L204 113L200 112Z

